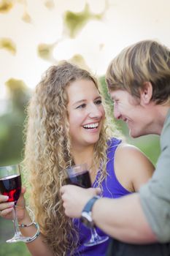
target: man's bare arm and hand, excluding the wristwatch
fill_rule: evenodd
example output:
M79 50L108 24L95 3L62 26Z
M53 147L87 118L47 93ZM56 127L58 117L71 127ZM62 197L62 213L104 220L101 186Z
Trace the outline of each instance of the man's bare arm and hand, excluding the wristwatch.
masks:
M61 194L65 214L72 218L80 218L85 204L99 192L99 189L63 186ZM157 241L144 217L138 193L118 199L97 200L92 209L92 217L101 230L121 241L136 244Z

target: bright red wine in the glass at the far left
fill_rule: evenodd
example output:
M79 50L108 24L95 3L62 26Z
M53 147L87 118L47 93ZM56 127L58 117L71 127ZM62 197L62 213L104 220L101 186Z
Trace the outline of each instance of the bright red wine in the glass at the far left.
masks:
M0 179L0 192L2 195L8 195L7 202L16 202L20 197L21 177L20 175L7 176Z

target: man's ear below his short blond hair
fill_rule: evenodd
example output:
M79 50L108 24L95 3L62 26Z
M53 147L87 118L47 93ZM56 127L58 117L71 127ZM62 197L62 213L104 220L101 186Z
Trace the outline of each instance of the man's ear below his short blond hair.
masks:
M152 98L152 83L144 82L143 87L140 91L141 95L141 105L147 105L150 103Z

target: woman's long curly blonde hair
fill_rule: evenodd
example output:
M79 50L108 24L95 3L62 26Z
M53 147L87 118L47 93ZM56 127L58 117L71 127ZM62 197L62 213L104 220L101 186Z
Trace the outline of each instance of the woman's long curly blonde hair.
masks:
M45 242L56 256L74 255L78 233L64 214L60 189L63 169L73 165L67 116L66 87L74 80L96 79L84 69L63 61L47 69L28 106L26 122L25 175L30 185L29 204L34 209ZM111 127L111 124L109 124ZM116 131L116 130L115 130ZM104 124L94 147L93 164L101 168L98 186L107 175L107 140L109 128Z

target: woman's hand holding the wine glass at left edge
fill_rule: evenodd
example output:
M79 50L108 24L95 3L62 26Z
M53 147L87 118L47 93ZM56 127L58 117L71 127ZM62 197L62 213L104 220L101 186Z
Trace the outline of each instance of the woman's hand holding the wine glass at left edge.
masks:
M22 220L25 216L25 206L26 206L26 201L24 199L24 194L26 192L26 188L23 187L21 189L20 197L17 202L17 217L18 220ZM13 219L13 206L14 202L7 202L8 196L6 195L1 195L0 194L0 216L5 218L5 219Z

